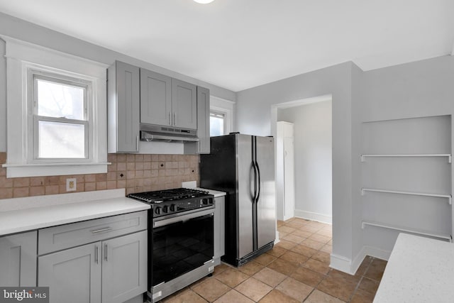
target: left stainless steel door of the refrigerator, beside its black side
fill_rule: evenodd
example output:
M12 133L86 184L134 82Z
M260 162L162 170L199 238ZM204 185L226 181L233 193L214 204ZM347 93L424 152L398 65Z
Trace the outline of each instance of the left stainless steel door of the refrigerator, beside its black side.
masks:
M243 258L253 252L253 137L236 136L238 258Z

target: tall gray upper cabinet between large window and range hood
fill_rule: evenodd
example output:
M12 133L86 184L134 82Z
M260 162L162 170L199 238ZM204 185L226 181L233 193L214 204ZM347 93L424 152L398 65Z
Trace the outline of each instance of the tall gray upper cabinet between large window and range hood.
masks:
M108 152L137 153L140 69L116 61L107 70Z

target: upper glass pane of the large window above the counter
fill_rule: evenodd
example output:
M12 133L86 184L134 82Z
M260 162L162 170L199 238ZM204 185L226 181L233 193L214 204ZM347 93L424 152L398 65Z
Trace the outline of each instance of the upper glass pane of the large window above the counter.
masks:
M38 115L84 120L85 88L36 79Z

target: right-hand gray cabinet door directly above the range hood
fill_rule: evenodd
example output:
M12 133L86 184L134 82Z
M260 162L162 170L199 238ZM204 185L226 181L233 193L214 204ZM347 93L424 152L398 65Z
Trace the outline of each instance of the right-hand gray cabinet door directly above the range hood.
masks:
M196 86L172 79L172 125L181 128L197 128Z

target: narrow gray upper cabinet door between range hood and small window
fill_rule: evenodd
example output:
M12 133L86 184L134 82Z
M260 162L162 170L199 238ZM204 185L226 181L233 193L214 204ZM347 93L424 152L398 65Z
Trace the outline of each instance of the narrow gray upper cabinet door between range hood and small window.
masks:
M210 153L210 91L197 87L197 153Z

